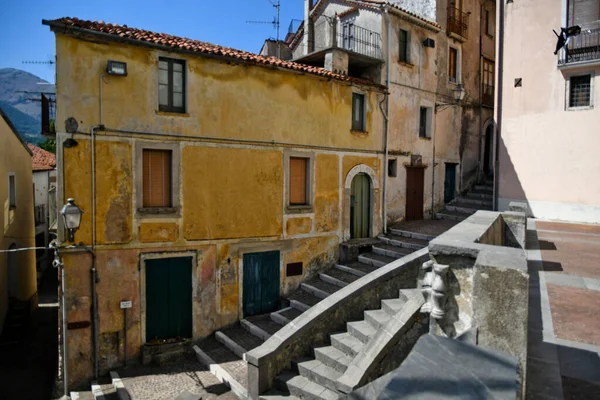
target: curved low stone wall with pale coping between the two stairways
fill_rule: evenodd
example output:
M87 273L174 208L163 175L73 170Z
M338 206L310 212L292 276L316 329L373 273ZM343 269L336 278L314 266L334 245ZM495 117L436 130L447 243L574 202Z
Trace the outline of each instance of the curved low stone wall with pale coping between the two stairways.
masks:
M400 289L416 287L419 268L429 260L427 248L391 262L320 301L280 329L261 346L246 353L248 395L258 399L294 359L324 343L329 333L344 330L348 321L362 319L382 299L397 298Z

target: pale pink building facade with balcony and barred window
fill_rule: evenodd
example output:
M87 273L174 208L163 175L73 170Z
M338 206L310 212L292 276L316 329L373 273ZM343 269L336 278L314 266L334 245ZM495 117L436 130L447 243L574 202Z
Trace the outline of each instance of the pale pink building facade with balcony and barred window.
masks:
M497 3L495 200L600 223L600 0ZM557 47L555 30L581 33Z

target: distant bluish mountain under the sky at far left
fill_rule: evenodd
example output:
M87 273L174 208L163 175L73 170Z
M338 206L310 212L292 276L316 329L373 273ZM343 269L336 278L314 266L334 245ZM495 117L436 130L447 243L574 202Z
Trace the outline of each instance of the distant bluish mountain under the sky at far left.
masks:
M29 72L15 68L0 69L0 107L11 119L17 131L28 142L44 140L40 135L41 103L31 101L39 92L54 92L54 85ZM32 92L32 93L22 93Z

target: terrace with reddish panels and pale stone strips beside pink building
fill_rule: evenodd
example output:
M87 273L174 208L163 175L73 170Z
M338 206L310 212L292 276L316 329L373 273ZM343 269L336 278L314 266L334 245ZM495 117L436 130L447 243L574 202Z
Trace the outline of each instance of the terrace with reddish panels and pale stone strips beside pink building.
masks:
M529 399L600 398L600 226L529 221Z

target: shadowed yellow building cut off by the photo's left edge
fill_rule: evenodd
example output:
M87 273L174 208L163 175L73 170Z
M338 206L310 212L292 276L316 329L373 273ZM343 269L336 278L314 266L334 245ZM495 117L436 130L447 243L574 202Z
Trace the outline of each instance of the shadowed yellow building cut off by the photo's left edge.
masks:
M31 152L1 109L0 177L0 250L34 247ZM0 252L0 333L11 306L37 306L33 250Z

